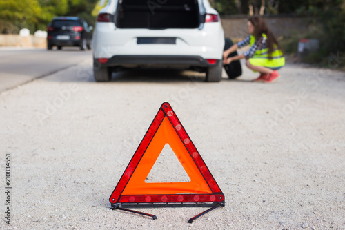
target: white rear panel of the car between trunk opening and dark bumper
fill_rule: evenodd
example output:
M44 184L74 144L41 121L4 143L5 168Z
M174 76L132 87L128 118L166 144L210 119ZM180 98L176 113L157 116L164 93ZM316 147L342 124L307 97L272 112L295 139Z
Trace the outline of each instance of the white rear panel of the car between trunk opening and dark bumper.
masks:
M143 44L141 38L173 39L175 42ZM119 29L114 23L97 23L92 40L95 58L115 55L181 55L221 59L224 32L220 23L197 29Z

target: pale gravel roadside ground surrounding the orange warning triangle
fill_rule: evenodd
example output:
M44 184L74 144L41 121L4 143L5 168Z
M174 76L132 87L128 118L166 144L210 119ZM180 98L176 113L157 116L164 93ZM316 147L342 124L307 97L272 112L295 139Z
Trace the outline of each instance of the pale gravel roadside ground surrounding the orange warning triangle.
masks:
M288 64L277 82L261 84L246 68L219 83L150 70L97 83L91 67L87 59L0 93L0 229L344 229L343 72ZM157 220L110 210L165 101L225 195L225 207L193 224L206 208L136 209ZM154 167L148 182L188 181L170 148Z

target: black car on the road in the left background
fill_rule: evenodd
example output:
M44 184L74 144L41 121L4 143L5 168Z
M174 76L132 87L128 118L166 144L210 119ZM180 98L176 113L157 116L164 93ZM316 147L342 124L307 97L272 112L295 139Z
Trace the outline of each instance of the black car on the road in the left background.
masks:
M79 46L80 50L91 48L91 30L88 23L80 17L54 17L47 26L47 48L57 46Z

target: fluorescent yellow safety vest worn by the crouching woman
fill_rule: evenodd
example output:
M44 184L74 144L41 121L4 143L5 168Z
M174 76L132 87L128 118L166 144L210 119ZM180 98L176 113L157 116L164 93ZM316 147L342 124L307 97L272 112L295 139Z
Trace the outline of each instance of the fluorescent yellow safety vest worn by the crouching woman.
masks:
M267 39L265 34L262 34ZM255 37L250 35L250 46L255 43ZM250 57L249 62L253 66L264 66L268 68L279 68L285 65L285 58L282 50L279 50L276 44L273 45L273 52L270 54L271 59L268 59L268 48L256 50L253 57Z

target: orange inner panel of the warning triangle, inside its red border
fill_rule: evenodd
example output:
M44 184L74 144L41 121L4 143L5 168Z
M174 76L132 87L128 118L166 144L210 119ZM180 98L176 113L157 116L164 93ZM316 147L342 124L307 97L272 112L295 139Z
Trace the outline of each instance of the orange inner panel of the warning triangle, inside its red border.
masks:
M190 182L170 182L170 183L146 183L145 179L150 173L159 154L166 144L169 144L177 159L184 167L190 178ZM132 177L128 181L123 195L140 194L176 194L176 193L212 193L210 187L204 180L197 165L188 153L181 139L175 132L169 119L165 117L159 126L155 136L152 138L146 152L141 157Z

